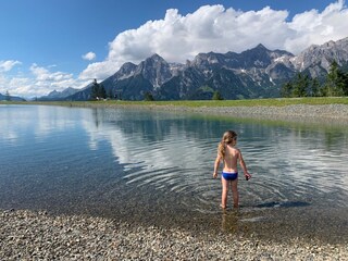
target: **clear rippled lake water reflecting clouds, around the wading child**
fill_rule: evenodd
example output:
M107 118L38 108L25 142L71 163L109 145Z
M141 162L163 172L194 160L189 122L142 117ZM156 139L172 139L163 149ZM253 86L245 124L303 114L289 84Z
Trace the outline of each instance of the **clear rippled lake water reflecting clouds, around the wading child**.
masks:
M0 117L1 209L347 239L345 125L45 105L0 105ZM212 178L226 129L252 174L239 178L237 212L220 210Z

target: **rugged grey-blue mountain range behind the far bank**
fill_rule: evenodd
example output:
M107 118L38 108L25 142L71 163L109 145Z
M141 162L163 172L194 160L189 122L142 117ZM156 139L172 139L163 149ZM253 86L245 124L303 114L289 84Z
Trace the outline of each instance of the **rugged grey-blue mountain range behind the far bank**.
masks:
M297 73L323 77L334 60L348 66L348 37L311 46L299 55L262 45L240 53L199 53L186 64L153 54L137 65L123 64L100 84L124 100L144 100L146 92L156 100L211 99L214 91L224 99L278 97L281 86ZM90 92L91 84L65 99L88 100Z

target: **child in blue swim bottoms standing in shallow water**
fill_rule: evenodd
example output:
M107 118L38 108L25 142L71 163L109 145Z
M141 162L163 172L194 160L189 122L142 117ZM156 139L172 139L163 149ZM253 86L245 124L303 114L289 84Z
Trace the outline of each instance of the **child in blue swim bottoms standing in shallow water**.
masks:
M221 175L222 183L222 195L221 195L221 208L226 209L227 203L227 192L228 186L231 186L233 191L233 206L234 208L239 207L239 195L238 195L238 169L237 163L239 162L244 175L248 181L251 175L248 173L247 165L244 162L241 152L239 149L235 148L237 144L237 134L234 130L227 130L224 133L219 147L217 157L214 163L213 177L217 177L217 170L220 162L223 162L224 167Z

